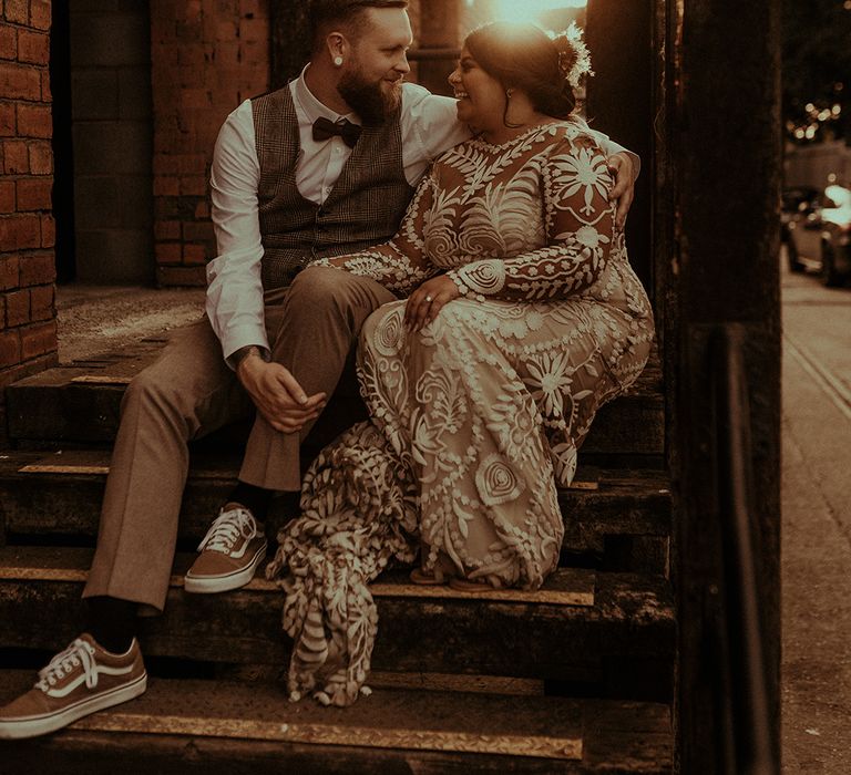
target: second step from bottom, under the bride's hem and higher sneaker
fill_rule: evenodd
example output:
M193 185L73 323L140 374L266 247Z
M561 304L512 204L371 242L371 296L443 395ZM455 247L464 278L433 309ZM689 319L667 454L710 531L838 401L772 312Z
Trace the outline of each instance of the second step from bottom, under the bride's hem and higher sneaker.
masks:
M79 633L92 551L0 549L0 648L58 650ZM218 596L187 595L178 555L165 613L144 619L146 654L228 664L287 664L283 597L263 577ZM535 592L421 587L406 571L372 586L379 611L373 668L542 679L595 696L671 695L675 650L668 581L564 568Z

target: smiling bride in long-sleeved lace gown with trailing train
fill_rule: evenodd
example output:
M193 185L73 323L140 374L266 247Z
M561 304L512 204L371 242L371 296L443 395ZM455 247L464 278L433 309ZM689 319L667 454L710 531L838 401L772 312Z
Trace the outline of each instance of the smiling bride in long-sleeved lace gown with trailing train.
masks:
M287 593L294 698L344 705L365 690L367 582L391 561L419 552L412 581L463 590L535 589L557 566L556 488L654 335L605 155L573 116L588 70L575 28L472 32L449 80L473 138L434 163L390 242L305 270L408 298L363 327L371 421L314 463L267 571Z

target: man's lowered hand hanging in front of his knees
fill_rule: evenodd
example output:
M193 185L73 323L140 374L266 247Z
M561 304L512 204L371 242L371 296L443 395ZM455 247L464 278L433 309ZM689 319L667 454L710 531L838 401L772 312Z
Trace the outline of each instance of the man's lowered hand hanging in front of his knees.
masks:
M281 433L297 433L325 409L325 393L308 396L280 363L266 363L257 354L244 358L236 375L257 411Z

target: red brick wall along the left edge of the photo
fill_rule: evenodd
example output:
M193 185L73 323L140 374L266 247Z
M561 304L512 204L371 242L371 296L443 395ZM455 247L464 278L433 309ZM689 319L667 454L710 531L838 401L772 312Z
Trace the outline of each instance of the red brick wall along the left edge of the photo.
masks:
M0 386L57 360L50 0L0 0Z

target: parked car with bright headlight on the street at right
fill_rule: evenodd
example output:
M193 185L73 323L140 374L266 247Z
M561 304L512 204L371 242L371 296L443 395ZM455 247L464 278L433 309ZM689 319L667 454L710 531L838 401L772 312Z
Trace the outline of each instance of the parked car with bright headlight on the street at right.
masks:
M787 189L781 228L791 271L816 271L826 286L851 277L851 190Z

